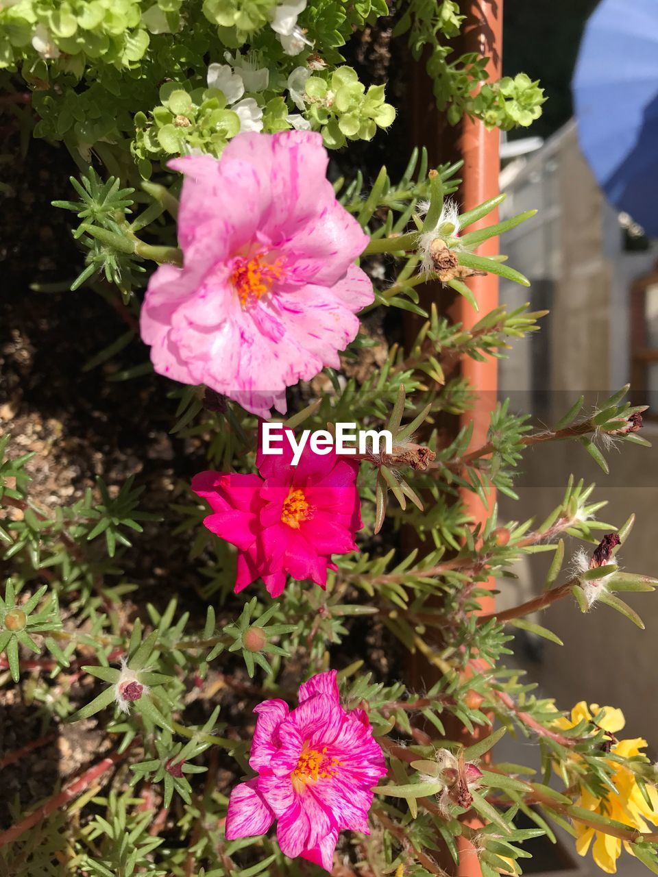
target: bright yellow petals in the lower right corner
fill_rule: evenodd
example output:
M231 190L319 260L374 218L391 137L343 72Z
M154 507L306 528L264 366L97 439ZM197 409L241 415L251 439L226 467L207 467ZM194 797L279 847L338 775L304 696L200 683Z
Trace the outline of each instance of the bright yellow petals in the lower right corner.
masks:
M611 735L621 731L626 724L626 719L621 709L599 707L597 703L592 703L590 709L588 709L584 701L576 703L574 709L571 710L570 720L568 718L560 718L555 722L555 725L566 731L569 728L574 728L583 719L591 722L592 718L597 716L597 713L601 712L602 709L604 715L599 719L598 727L608 731ZM610 751L622 758L632 758L633 756L640 755L640 749L644 749L647 745L647 741L641 737L627 740L618 740L616 737L613 737L612 740ZM647 794L654 806L654 810L652 810L640 792L640 787L635 780L633 771L612 759L608 760L608 764L612 771L610 779L617 789L617 794L609 791L606 797L597 798L595 795L591 795L586 788L581 788L580 796L575 802L576 807L591 810L593 813L614 819L638 831L649 830L645 820L658 825L658 792L656 789L653 786L647 786ZM594 840L592 856L597 866L605 873L612 874L617 872L617 859L619 859L621 854L622 843L626 847L626 852L630 852L633 855L631 845L627 844L626 841L622 842L620 838L613 838L611 835L605 834L604 831L598 831L577 821L574 822L574 828L576 829L577 852L581 856L586 855L592 840Z

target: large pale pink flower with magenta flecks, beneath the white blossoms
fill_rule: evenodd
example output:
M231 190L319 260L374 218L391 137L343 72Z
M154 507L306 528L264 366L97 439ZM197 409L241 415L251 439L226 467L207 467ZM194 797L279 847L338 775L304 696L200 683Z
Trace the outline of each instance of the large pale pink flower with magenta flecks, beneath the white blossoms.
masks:
M327 161L318 133L286 131L169 163L185 175L184 267L159 267L141 310L156 372L267 417L285 412L286 387L340 366L374 294L354 265L368 237L336 200Z

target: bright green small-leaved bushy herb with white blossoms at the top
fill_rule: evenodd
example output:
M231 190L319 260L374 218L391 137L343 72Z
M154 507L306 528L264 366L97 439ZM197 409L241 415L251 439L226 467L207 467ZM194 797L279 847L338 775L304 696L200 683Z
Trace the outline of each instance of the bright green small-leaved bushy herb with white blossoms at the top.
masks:
M227 61L238 74L254 58L268 70L267 85L253 91L246 80L245 88L260 107L266 132L289 128L297 110L329 148L371 139L391 125L395 110L385 103L383 85L366 89L352 68L341 66L339 51L355 29L389 14L383 0L311 0L299 11L297 26L306 43L297 55L286 53L270 26L279 5L18 0L0 10L0 69L18 70L32 89L36 136L63 140L81 168L95 155L110 173L127 174L132 182L158 173L171 155L197 149L219 155L240 131L229 96L207 87L208 58ZM536 82L518 75L486 83L474 97L485 76L483 60L445 60L448 50L440 40L454 37L462 19L452 0L411 0L396 32L410 32L416 57L433 46L428 69L451 121L466 111L505 130L529 124L543 100ZM300 71L309 77L305 89ZM130 168L129 153L138 173Z

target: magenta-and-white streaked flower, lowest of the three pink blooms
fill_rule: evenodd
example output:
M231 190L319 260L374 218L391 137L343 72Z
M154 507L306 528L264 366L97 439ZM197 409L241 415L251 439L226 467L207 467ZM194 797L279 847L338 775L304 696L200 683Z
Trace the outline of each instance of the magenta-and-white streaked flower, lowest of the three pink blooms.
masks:
M258 713L249 765L253 780L232 790L226 838L265 834L276 820L282 852L331 872L339 831L368 831L368 810L386 774L368 714L340 705L336 671L313 676L299 688L299 706L264 701Z

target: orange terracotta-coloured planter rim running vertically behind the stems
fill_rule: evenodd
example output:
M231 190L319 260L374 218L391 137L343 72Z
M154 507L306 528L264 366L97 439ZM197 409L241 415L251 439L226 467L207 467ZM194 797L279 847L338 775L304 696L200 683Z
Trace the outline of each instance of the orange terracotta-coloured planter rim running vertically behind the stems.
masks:
M463 51L476 52L487 56L490 80L495 81L502 75L501 53L503 46L503 0L468 0L468 18L465 22ZM461 186L461 210L470 210L477 204L487 201L498 194L498 171L500 168L500 135L497 129L487 131L482 122L465 118L461 127L459 152L464 160L463 183ZM497 222L497 211L490 214L480 223L472 225L474 230L483 225ZM495 255L498 252L498 240L492 238L485 241L477 251L480 255ZM480 306L480 313L487 314L498 304L498 279L495 275L473 277L468 282ZM479 319L471 305L459 296L454 303L454 319L465 328L473 326ZM461 362L461 374L468 379L469 385L477 394L473 410L462 415L461 425L471 420L474 424L471 447L479 447L486 443L490 423L490 412L496 405L498 374L497 360L487 358L483 362L465 356ZM482 500L470 490L461 492L461 500L466 506L474 522L484 521L495 500L492 491L489 509ZM494 610L493 597L482 601L482 611ZM475 819L468 820L476 827ZM456 838L459 849L458 877L481 877L482 870L477 853L472 844L465 838Z

